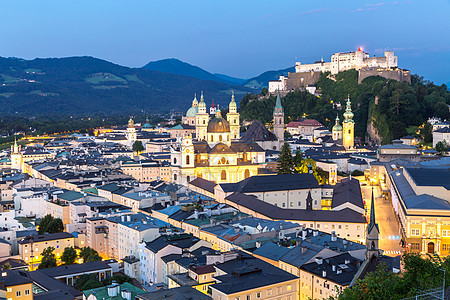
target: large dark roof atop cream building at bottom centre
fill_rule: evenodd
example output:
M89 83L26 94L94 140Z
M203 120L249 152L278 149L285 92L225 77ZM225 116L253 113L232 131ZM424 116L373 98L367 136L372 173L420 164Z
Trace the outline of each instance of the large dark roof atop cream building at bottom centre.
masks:
M298 278L261 259L242 252L239 253L237 259L217 264L216 268L224 271L227 275L215 277L220 283L213 284L210 287L226 295L263 288Z

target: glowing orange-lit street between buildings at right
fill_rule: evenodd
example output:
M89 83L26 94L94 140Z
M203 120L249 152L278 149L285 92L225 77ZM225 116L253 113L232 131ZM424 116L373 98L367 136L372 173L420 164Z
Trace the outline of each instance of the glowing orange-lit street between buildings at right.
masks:
M361 190L366 200L367 215L370 216L372 187L361 186ZM385 255L401 255L403 248L400 244L400 231L392 205L380 197L380 189L378 186L373 187L373 193L375 199L375 218L380 228L379 248L384 250Z

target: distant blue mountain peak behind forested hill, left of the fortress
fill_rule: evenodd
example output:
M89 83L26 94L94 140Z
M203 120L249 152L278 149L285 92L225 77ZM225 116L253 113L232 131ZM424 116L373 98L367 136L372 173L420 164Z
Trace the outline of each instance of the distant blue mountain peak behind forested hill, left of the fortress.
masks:
M198 78L202 80L213 80L213 81L219 81L222 83L230 84L230 85L240 85L245 80L233 78L227 75L221 75L221 74L212 74L208 71L203 70L202 68L199 68L197 66L193 66L191 64L188 64L184 61L181 61L176 58L168 58L168 59L161 59L157 61L152 61L143 66L144 69L152 70L152 71L159 71L159 72L166 72L166 73L172 73L177 75L184 75L189 76L193 78Z

